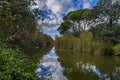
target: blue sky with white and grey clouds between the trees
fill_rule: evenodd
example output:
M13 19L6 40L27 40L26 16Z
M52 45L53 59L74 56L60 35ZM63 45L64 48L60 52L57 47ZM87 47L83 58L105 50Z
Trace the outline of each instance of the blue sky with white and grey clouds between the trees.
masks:
M98 0L36 0L36 7L43 11L44 21L38 20L43 27L43 33L53 39L60 35L57 28L63 22L63 17L70 11L92 8Z

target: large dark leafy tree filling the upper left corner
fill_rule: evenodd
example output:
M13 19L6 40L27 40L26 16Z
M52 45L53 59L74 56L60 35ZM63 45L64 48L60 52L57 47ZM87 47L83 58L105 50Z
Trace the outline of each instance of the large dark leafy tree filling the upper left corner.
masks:
M30 6L34 0L0 1L0 40L10 47L17 47L35 31L37 21ZM37 11L35 12L37 14ZM40 14L39 14L40 15ZM38 16L38 14L37 14Z

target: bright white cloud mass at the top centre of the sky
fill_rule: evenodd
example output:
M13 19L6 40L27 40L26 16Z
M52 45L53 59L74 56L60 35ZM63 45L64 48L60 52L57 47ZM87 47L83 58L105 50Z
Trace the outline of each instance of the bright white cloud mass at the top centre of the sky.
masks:
M70 6L73 5L72 0L37 0L37 4L41 10L51 11L51 14L48 14L50 19L43 21L43 26L48 28L58 27L63 18L61 14L66 14L71 10Z

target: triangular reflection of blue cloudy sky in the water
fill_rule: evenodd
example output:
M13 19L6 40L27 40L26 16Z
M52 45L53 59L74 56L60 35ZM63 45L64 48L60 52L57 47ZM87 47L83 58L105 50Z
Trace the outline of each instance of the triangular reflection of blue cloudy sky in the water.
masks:
M67 80L63 75L64 68L61 67L57 59L58 56L55 53L55 48L53 48L40 60L36 69L37 75L44 80Z

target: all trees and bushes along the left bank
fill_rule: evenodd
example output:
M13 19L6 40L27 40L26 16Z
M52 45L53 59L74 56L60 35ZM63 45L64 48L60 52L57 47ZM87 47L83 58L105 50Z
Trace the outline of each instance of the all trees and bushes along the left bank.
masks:
M34 0L0 0L0 80L37 80L25 54L52 45L53 40L37 29L41 17ZM19 51L19 50L21 51Z

